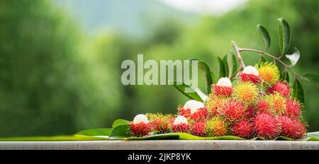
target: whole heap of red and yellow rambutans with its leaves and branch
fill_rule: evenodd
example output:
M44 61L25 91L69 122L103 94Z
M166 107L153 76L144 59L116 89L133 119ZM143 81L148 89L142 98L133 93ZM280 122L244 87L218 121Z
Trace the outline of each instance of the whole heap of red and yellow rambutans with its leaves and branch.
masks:
M257 25L264 50L237 47L223 59L217 57L218 78L208 64L198 59L196 64L205 75L205 95L198 88L193 92L184 83L172 85L191 100L177 107L177 115L136 115L132 122L118 119L112 129L88 130L80 134L107 135L109 139L285 139L319 141L319 132L308 133L302 117L304 95L298 79L319 86L318 74L296 74L292 67L300 54L290 45L290 28L284 18L278 19L280 55L267 53L270 36L266 28ZM241 52L253 52L259 63L245 66ZM267 61L264 57L270 58ZM231 58L228 58L231 57ZM291 64L286 64L286 57ZM231 61L230 61L231 59ZM230 61L230 62L228 62ZM192 63L194 64L194 63ZM283 71L280 71L283 70ZM293 75L291 83L289 75ZM291 85L293 84L293 85ZM100 131L96 133L96 131Z

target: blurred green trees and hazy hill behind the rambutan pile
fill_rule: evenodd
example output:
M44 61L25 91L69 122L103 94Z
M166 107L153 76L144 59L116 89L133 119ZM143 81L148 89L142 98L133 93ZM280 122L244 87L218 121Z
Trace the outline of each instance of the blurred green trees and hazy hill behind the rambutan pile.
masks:
M172 86L123 86L121 62L196 57L216 71L230 40L262 49L258 23L278 54L279 17L301 52L293 69L318 74L318 13L318 0L251 0L220 14L149 0L0 0L0 136L74 134L139 113L175 113L187 98ZM258 60L251 55L243 54L246 64ZM319 131L319 90L301 82L308 130Z

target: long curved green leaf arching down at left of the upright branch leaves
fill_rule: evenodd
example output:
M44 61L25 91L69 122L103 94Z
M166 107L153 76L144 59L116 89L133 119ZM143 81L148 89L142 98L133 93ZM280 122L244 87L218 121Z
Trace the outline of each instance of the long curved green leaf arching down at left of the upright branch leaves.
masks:
M189 59L189 61L198 61L198 66L204 72L205 75L206 91L208 94L211 93L211 85L215 83L215 77L213 72L211 72L211 69L209 69L208 64L198 59Z

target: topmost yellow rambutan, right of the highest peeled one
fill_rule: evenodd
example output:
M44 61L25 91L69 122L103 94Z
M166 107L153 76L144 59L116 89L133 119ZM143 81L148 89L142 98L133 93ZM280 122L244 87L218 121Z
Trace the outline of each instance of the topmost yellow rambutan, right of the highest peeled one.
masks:
M256 66L259 72L260 78L269 84L276 83L279 81L280 72L278 66L272 62L265 62Z

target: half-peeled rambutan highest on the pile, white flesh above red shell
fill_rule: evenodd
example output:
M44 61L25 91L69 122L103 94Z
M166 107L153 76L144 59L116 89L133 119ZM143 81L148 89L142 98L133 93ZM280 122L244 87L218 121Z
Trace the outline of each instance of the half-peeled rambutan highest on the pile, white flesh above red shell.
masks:
M254 66L246 66L242 74L240 74L240 81L254 84L259 83L260 77L258 70L254 68Z

